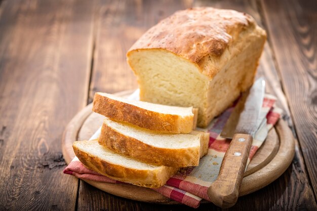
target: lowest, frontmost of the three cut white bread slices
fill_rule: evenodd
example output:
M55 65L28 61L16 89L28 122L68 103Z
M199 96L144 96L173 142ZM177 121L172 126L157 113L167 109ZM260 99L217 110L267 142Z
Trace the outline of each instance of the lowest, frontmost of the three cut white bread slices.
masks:
M117 181L158 188L165 185L179 168L146 164L112 152L97 140L76 141L73 149L78 159L91 170Z

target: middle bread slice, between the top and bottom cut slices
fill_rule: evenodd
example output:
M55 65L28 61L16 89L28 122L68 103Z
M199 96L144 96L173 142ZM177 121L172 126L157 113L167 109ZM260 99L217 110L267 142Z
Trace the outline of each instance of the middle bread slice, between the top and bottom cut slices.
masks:
M98 142L146 163L187 167L199 165L207 153L209 133L166 134L106 118Z

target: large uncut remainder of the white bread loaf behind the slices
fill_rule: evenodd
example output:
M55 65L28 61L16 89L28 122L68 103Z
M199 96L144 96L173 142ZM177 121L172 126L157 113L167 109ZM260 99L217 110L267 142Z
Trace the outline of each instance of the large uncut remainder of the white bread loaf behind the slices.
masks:
M206 127L251 87L265 39L248 14L193 8L150 28L127 60L141 101L199 108L197 125Z

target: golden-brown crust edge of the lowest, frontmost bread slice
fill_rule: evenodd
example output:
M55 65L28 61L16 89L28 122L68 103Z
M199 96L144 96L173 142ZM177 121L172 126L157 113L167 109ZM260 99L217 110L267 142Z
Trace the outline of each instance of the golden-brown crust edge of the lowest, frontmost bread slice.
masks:
M76 146L76 142L73 143L73 149L77 158L89 169L111 179L141 187L161 187L178 171L178 168L167 166L159 166L160 168L150 171L114 164L81 150Z

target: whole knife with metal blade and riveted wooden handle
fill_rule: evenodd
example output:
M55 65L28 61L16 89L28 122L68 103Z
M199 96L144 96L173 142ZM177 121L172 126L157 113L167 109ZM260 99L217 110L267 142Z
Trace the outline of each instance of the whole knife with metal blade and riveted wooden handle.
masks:
M259 119L265 93L265 81L259 78L241 96L220 136L232 139L223 157L218 178L208 188L210 200L222 208L235 204L239 197L253 137L261 125Z

